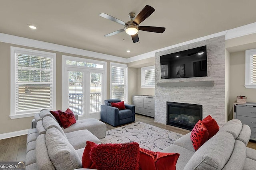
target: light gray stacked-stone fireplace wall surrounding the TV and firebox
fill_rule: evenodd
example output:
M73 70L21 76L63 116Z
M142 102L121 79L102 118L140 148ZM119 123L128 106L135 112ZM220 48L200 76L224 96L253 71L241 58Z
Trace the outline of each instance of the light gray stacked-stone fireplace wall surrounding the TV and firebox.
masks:
M161 79L160 56L195 47L207 46L207 77ZM228 82L225 36L174 47L155 54L155 121L167 124L166 102L202 106L202 118L211 115L221 127L227 121ZM212 82L208 86L201 82ZM160 86L164 84L164 86ZM175 84L175 86L174 86ZM189 84L189 85L188 85ZM194 84L191 86L191 84Z

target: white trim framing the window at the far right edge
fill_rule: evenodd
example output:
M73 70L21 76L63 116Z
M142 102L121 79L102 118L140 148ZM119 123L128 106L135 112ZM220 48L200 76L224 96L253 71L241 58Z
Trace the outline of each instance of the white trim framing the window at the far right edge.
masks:
M256 84L252 84L251 80L251 69L250 69L250 57L256 54L256 49L245 51L245 88L256 88Z

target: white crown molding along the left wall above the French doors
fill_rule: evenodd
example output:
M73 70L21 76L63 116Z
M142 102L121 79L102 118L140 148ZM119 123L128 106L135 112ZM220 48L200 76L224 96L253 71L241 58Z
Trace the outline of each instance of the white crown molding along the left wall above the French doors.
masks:
M38 49L58 51L58 52L63 52L63 53L75 54L75 55L82 55L82 56L92 57L92 58L97 58L97 59L104 59L104 60L127 63L127 59L122 58L122 57L97 53L94 51L88 51L88 50L83 50L83 49L77 49L77 48L68 47L68 46L64 46L64 45L47 43L44 41L38 41L38 40L34 40L34 39L28 39L28 38L18 37L15 35L9 35L9 34L4 34L4 33L0 33L0 42L16 44L16 45L23 45L23 46L27 46L27 47L34 47L34 48L38 48Z

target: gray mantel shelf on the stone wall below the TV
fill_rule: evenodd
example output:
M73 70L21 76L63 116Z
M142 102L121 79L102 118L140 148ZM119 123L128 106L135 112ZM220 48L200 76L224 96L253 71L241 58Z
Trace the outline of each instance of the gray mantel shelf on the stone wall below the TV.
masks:
M213 86L213 81L191 81L191 82L162 82L158 87L191 87L191 86Z

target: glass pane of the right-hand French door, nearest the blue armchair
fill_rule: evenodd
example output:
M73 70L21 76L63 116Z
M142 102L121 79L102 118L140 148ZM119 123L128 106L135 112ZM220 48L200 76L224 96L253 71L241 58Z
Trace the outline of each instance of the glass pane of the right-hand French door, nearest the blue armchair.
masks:
M102 74L90 73L90 113L100 111L102 101Z

